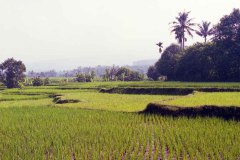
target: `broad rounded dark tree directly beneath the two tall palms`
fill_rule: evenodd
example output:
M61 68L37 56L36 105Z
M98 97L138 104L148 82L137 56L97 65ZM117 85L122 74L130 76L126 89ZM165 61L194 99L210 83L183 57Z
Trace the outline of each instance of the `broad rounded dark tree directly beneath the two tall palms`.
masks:
M188 47L178 61L176 80L217 81L219 73L216 63L219 57L216 53L213 43L197 43Z

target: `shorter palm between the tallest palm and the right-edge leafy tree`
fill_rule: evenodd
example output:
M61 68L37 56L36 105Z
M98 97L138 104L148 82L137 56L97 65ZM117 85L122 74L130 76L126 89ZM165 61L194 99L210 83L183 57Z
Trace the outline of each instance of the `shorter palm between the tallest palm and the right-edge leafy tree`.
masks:
M202 24L198 24L199 30L196 34L204 38L204 42L207 42L207 36L213 35L213 28L210 28L211 22L202 21Z

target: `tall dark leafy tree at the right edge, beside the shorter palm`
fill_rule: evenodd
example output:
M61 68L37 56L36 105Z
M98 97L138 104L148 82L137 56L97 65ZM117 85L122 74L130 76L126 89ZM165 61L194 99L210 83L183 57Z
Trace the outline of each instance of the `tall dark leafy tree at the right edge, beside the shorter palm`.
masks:
M217 44L221 81L240 81L240 10L233 9L215 26L213 41Z

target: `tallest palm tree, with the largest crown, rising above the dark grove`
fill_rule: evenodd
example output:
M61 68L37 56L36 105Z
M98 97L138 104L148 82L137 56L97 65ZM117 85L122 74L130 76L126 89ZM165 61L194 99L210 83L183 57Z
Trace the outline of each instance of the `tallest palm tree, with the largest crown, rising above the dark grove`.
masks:
M171 22L172 30L176 35L175 38L181 45L181 48L184 49L185 41L187 41L186 33L193 37L192 31L195 31L192 27L195 26L195 23L192 23L192 18L189 19L190 12L180 12L178 17L176 17L176 21ZM186 32L186 33L185 33Z

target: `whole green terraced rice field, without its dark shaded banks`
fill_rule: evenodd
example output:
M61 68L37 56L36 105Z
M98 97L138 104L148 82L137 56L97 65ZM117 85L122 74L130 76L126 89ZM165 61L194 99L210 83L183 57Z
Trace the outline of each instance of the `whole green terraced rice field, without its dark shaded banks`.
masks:
M240 159L240 123L142 113L151 103L240 107L240 92L110 94L101 88L240 88L240 83L70 83L0 93L0 159Z

